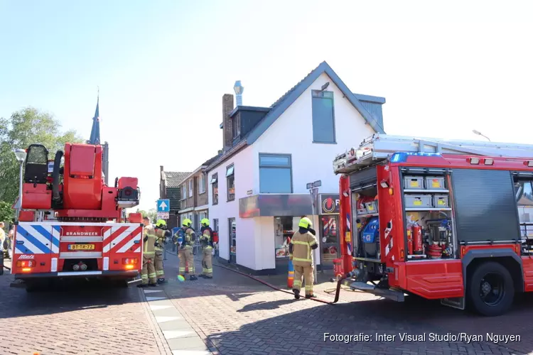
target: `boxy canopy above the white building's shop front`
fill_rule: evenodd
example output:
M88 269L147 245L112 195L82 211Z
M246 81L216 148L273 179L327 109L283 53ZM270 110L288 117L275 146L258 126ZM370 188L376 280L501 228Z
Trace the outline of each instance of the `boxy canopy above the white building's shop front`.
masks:
M309 216L312 213L308 194L265 194L239 199L241 218Z

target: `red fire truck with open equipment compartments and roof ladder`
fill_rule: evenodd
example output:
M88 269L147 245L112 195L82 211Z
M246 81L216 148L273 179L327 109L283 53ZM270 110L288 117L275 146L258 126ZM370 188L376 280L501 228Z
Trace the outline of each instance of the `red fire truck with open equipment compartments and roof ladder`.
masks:
M533 291L533 145L376 133L333 170L352 290L486 316Z

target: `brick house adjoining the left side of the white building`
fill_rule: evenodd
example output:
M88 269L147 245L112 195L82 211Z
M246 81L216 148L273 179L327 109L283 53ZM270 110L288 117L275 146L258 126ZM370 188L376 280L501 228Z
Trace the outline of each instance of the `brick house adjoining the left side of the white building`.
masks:
M205 168L219 157L220 154L205 161L192 173L186 175L179 185L178 190L181 198L180 204L178 205L178 221L181 224L183 219L190 219L193 221L195 231L200 230L200 221L203 218L209 218L209 183L208 176L205 174ZM215 229L215 226L212 226L212 228Z

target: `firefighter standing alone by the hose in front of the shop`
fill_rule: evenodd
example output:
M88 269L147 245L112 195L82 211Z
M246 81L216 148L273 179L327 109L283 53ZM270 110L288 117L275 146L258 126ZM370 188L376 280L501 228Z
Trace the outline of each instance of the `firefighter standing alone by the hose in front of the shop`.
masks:
M306 283L306 298L316 297L313 293L313 250L318 248L316 232L311 229L311 219L302 217L289 244L289 258L294 265L294 298L300 298L302 278Z

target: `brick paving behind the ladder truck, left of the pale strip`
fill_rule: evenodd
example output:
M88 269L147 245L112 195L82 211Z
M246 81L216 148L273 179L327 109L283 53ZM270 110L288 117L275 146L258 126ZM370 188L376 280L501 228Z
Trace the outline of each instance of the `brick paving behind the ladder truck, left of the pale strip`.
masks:
M166 354L138 288L26 293L0 276L0 354Z

